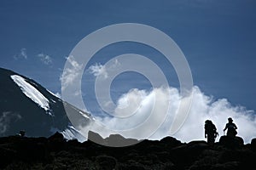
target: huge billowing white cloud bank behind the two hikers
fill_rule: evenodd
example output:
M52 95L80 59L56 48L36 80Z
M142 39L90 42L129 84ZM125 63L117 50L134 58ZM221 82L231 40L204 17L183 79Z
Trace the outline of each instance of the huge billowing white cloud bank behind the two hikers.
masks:
M175 138L183 142L204 139L204 122L207 119L212 120L221 136L228 117L233 118L238 127L238 135L246 143L249 143L256 136L254 111L247 111L244 107L231 105L227 99L213 100L212 97L203 94L200 88L196 86L193 88L192 94L193 102L189 116L177 133L172 135ZM109 129L118 130L125 137L143 139L144 133L157 129L148 139L162 139L171 135L170 127L177 114L181 99L182 96L180 96L177 88L154 88L148 92L131 89L119 98L113 116L96 117L96 120ZM152 121L147 122L150 114ZM155 122L163 123L156 128L157 123ZM138 128L141 124L145 126ZM122 132L122 130L134 127L138 130L132 133ZM109 135L109 131L104 131L93 125L91 128L97 133L101 133L103 137Z

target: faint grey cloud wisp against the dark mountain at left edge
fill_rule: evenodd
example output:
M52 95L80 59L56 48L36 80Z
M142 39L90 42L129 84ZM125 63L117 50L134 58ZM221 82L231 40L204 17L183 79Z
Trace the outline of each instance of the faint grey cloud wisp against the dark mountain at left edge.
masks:
M21 116L11 111L4 111L0 116L0 135L4 135L8 131L11 122L16 122Z

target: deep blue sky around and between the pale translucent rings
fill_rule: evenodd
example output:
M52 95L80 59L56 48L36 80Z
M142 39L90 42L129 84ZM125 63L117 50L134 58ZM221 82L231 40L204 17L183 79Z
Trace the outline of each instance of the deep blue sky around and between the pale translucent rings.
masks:
M50 91L61 93L60 76L67 56L83 37L103 26L141 23L164 31L177 42L189 61L194 84L203 93L256 111L255 11L253 0L3 0L0 67L17 71ZM136 43L115 44L102 49L91 64L104 64L112 56L127 52L151 55L151 59L160 55L146 48ZM97 58L101 54L105 57ZM165 66L165 60L155 59L155 62L162 65L170 79L173 77L170 84L178 87L175 72ZM84 83L93 82L93 78L85 74ZM113 99L130 88L148 88L147 80L137 82L142 79L124 74L113 85L114 89L121 87L113 93ZM124 88L127 80L132 83ZM90 94L84 95L93 99Z

